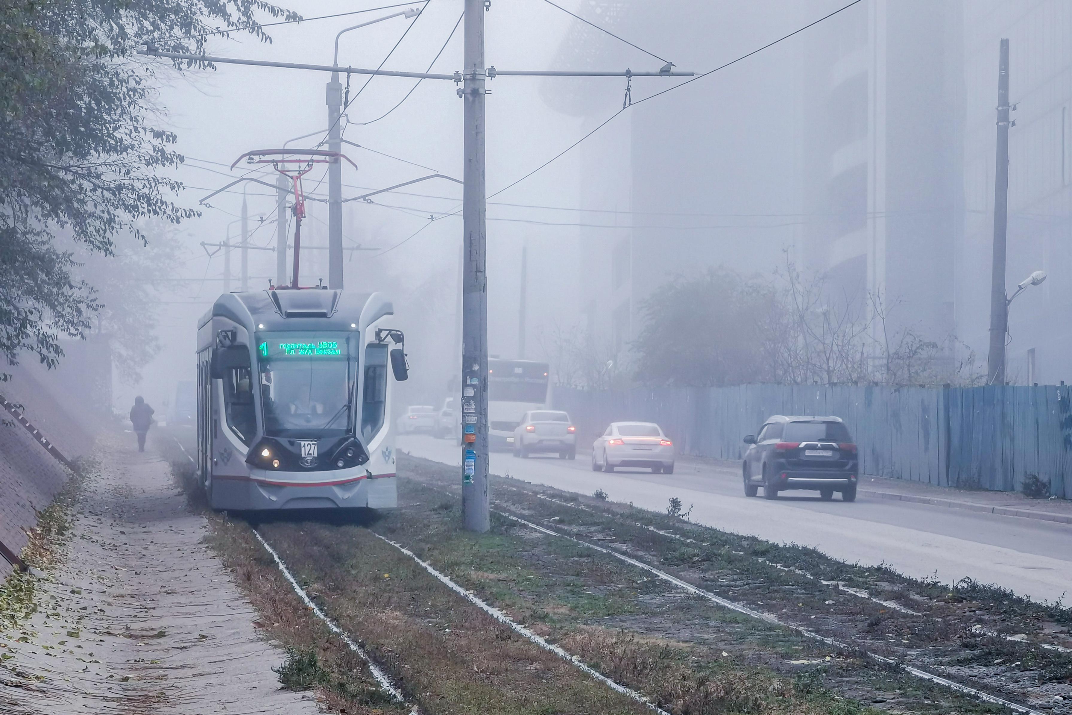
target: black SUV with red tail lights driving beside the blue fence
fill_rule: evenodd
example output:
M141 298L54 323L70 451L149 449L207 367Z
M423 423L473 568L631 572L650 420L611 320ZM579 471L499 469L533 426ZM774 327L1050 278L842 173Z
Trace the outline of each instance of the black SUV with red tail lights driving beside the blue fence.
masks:
M744 438L744 493L777 498L787 489L818 489L823 500L834 492L857 498L857 445L839 417L770 417L759 434Z

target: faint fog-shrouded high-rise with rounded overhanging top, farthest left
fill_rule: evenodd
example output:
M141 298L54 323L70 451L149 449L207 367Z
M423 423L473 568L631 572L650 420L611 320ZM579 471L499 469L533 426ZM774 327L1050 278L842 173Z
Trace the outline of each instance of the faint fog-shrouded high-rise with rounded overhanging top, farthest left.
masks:
M623 36L644 38L645 49L697 73L770 35L770 6L760 3L727 10L700 1L668 8L593 0L584 11ZM792 24L806 13L790 14ZM581 24L554 62L619 71L656 71L661 64ZM627 358L643 301L658 285L718 265L770 277L783 249L801 235L800 73L793 50L772 48L748 68L643 102L681 81L579 79L545 83L541 90L550 106L583 118L582 133L630 100L640 102L577 149L578 200L598 209L580 213L584 322L594 344L619 360Z

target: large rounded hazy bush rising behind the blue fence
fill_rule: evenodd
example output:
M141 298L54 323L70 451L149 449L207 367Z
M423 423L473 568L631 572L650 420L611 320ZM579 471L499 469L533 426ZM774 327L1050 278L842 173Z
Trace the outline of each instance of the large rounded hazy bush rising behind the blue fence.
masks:
M776 306L772 287L723 268L678 277L641 306L644 327L632 344L638 376L689 387L768 381L762 329Z

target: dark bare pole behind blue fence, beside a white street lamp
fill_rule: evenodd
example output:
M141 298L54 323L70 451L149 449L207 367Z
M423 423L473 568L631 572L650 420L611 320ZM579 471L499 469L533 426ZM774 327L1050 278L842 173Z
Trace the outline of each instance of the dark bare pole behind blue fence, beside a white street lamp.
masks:
M1009 223L1009 40L1001 40L998 62L998 140L994 170L994 263L991 273L991 349L987 384L1004 385L1009 304L1006 294L1006 232Z

